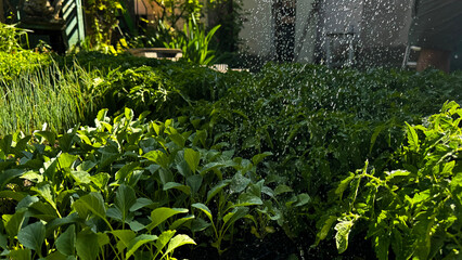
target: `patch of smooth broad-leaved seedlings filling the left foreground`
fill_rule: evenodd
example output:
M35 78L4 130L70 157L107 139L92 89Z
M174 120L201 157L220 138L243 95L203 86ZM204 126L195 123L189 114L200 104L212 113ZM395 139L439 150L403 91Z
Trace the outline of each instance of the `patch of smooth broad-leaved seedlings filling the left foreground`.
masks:
M103 109L95 127L0 139L0 198L12 204L2 211L3 255L170 259L195 244L177 230L203 237L207 227L221 252L236 221L262 205L256 165L269 154L251 162L221 152L224 144L200 148L205 131L146 122L147 114L136 119L126 108L111 120ZM187 214L193 209L210 223Z

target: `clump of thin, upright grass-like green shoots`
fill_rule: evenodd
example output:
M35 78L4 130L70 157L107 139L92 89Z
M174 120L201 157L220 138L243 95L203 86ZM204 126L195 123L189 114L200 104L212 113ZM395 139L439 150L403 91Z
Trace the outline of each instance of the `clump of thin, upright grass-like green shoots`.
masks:
M78 64L39 66L10 80L0 79L0 135L30 133L44 123L64 131L97 110L100 80Z

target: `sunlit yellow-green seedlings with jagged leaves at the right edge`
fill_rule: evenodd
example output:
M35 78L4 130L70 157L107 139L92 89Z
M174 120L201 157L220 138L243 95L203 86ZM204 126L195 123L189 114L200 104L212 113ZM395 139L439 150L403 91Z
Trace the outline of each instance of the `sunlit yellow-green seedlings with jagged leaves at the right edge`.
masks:
M407 138L393 157L394 170L362 170L344 179L342 203L318 233L325 238L335 222L338 252L355 229L365 230L378 259L451 259L462 249L460 207L462 109L446 103L423 125L407 125Z

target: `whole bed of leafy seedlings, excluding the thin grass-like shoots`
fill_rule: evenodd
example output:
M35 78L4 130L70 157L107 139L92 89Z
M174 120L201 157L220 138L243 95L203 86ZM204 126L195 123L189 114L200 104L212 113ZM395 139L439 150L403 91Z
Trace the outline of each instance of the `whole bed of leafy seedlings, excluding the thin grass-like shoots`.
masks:
M460 74L299 64L221 74L95 53L59 63L76 60L98 72L84 82L106 109L68 131L4 135L4 255L93 259L86 238L98 242L92 256L119 259L460 250L461 113L440 109L461 102Z

